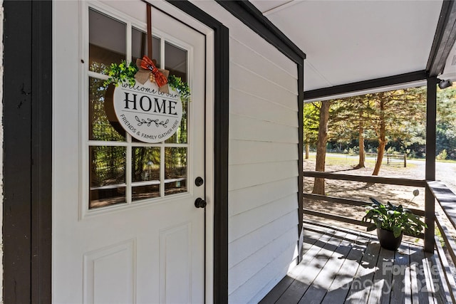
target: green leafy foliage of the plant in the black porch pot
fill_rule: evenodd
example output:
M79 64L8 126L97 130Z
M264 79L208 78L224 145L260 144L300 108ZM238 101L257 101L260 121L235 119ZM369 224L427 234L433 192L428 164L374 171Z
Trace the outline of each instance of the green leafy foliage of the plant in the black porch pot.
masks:
M404 208L402 205L394 206L388 201L388 204L382 204L373 197L370 197L373 204L366 206L366 215L362 221L373 223L367 227L367 231L375 229L385 229L393 231L397 238L403 232L412 236L420 234L427 225L420 221L412 211Z

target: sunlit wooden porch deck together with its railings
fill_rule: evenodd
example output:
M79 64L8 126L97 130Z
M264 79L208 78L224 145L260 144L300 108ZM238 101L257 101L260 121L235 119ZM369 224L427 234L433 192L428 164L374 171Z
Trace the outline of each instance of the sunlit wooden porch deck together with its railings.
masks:
M304 172L348 182L423 187L425 233L403 241L397 251L380 247L377 236L344 226L366 226L350 212L331 214L306 209L302 258L261 303L456 303L456 194L442 182ZM363 209L363 201L304 193L306 200ZM348 209L347 209L348 210ZM436 211L438 210L438 211ZM319 220L314 220L319 219ZM330 221L328 223L328 220ZM326 224L323 224L326 221Z

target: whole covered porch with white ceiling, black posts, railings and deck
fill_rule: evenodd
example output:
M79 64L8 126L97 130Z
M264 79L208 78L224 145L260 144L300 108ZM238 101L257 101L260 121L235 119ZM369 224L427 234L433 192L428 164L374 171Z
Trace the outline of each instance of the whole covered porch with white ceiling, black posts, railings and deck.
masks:
M420 243L403 241L398 251L380 248L373 234L342 228L346 224L362 225L348 212L329 214L306 208L307 199L359 208L366 202L303 193L304 202L299 206L300 219L304 218L299 226L303 239L301 259L260 303L456 303L456 246L454 232L450 232L456 228L456 195L445 184L435 182L437 84L456 79L455 2L420 2L405 8L405 2L395 2L398 6L391 2L388 6L380 1L324 1L306 3L306 11L299 11L296 1L275 1L279 4L275 7L260 2L253 1L281 31L306 50L304 103L427 85L424 179L301 170L303 180L324 178L423 188L425 207L415 210L425 217L427 224ZM371 5L378 5L378 10L371 11ZM428 6L422 10L420 5ZM331 18L317 20L318 14L313 14L317 9ZM440 15L436 23L437 19L432 21L431 16L436 17L437 11ZM368 13L373 18L382 17L368 20ZM314 28L320 31L301 31L288 22L297 15L303 20L303 28L317 24ZM393 20L398 22L396 26ZM325 27L329 30L322 33L321 28ZM417 38L417 46L423 44L413 48L405 43L411 37ZM441 206L440 214L436 212L437 206ZM317 221L306 221L306 214ZM321 224L318 218L337 224Z

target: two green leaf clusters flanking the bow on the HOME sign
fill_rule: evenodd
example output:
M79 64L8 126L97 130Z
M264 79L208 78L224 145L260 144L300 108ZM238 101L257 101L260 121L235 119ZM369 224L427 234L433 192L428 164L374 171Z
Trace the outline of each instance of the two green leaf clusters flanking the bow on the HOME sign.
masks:
M109 68L105 68L109 78L105 80L103 85L107 87L110 83L113 83L116 87L119 83L128 83L129 85L135 85L135 74L138 72L138 66L135 63L127 63L123 60L120 64L111 63ZM188 83L182 81L182 78L175 75L168 76L168 84L173 90L177 90L182 100L190 101L190 87Z

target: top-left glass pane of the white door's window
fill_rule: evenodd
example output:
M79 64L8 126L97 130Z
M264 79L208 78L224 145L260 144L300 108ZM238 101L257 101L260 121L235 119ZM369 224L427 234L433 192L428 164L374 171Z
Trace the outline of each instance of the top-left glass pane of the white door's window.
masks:
M125 60L126 25L89 9L89 70L103 73L111 63Z

